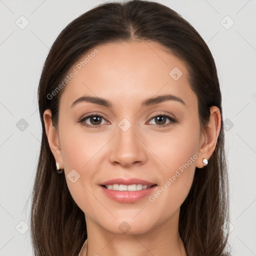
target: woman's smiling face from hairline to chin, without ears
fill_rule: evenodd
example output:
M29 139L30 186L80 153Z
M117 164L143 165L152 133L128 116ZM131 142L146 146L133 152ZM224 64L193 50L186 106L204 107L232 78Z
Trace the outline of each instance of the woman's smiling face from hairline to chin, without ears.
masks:
M122 225L129 233L143 233L176 220L189 192L202 139L197 98L185 64L156 42L96 49L84 66L80 61L90 52L73 65L77 73L61 95L58 159L86 221L114 233ZM162 95L172 98L152 100ZM82 96L110 104L80 100L72 105ZM113 199L100 184L114 178L156 185L143 196L113 192Z

